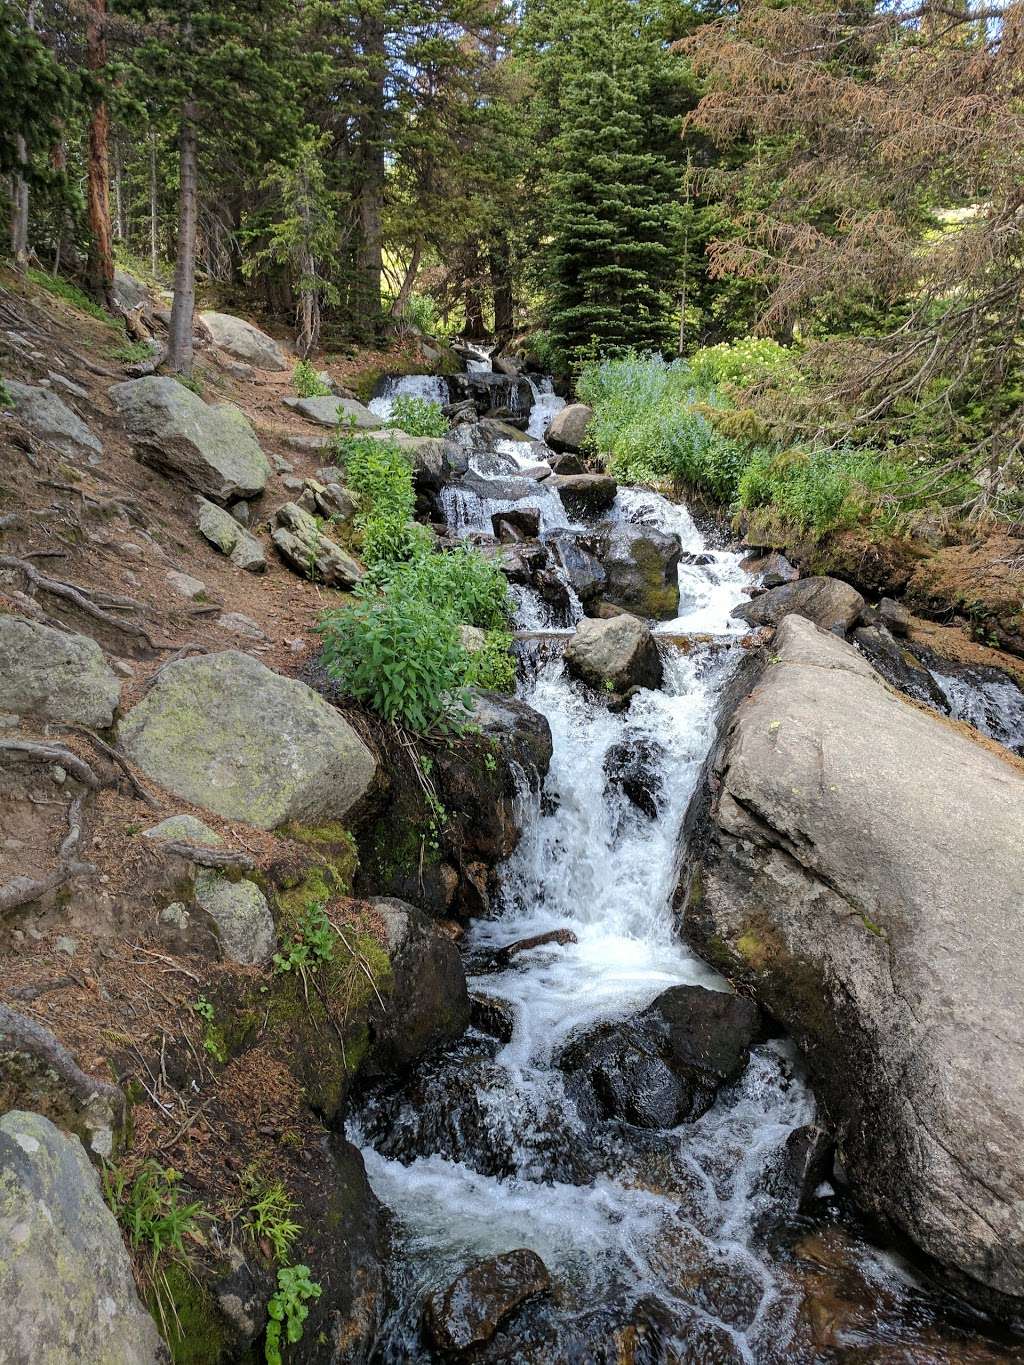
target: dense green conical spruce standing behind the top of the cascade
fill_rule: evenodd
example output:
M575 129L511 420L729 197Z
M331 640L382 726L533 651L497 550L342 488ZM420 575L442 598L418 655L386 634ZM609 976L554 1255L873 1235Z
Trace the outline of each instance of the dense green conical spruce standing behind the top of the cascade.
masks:
M557 76L545 311L569 366L673 337L684 72L672 67L659 11L583 0L564 18L542 57L542 79Z

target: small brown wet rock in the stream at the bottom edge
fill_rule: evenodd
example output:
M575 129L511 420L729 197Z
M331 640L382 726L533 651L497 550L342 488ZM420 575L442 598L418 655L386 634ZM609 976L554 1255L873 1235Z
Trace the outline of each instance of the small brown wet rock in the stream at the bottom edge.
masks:
M427 1299L427 1331L441 1350L470 1350L490 1340L520 1304L549 1286L547 1268L535 1252L505 1252L478 1261Z

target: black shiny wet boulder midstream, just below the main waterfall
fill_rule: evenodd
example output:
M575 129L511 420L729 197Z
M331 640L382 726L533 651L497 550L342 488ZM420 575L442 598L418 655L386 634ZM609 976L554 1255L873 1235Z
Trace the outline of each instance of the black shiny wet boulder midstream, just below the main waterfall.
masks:
M572 1039L557 1065L591 1122L674 1127L705 1114L743 1072L758 1029L758 1010L743 996L677 986L632 1020Z

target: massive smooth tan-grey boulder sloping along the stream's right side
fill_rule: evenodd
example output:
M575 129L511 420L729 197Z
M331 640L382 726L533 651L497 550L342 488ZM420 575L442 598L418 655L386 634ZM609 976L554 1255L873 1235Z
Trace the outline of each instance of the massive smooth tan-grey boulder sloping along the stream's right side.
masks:
M799 616L735 693L685 932L801 1046L860 1203L1020 1313L1024 773Z

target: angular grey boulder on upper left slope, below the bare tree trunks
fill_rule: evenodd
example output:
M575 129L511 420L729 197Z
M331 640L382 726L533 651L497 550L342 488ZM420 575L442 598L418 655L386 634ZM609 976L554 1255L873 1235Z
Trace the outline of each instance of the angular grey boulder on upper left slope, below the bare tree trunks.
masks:
M229 403L210 405L168 375L115 384L111 397L143 464L180 475L213 502L254 498L270 465L253 427Z

